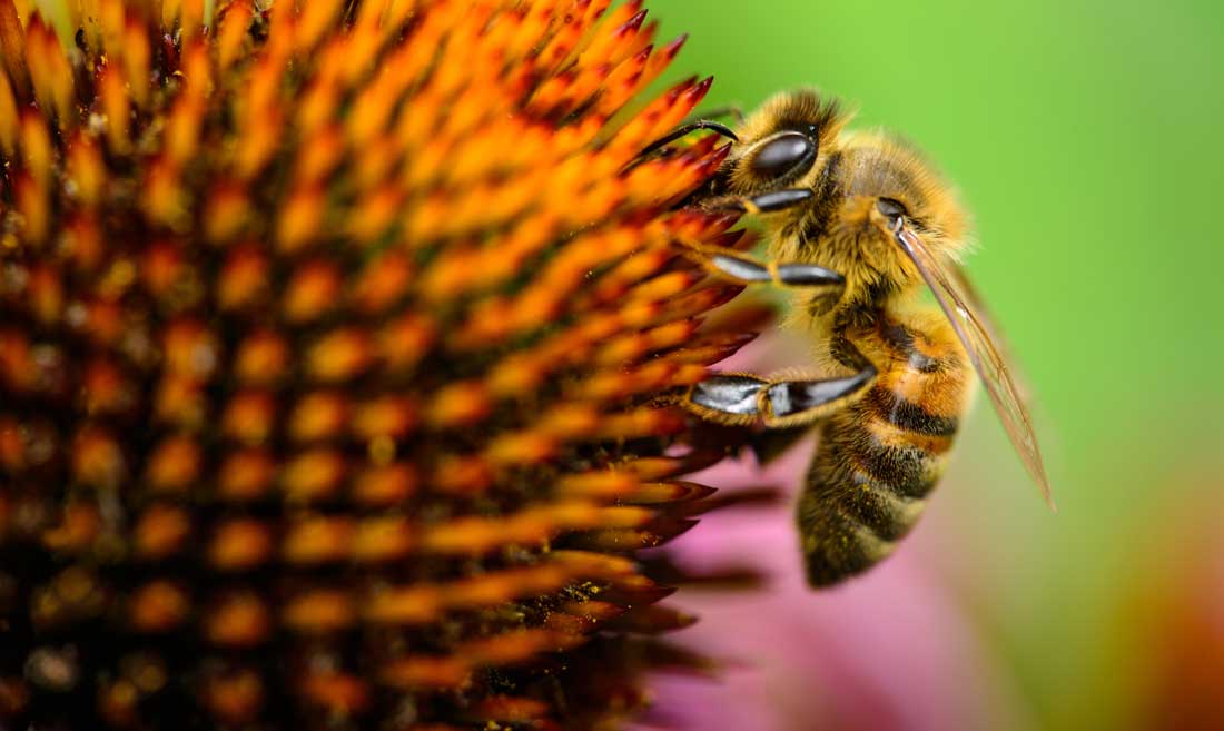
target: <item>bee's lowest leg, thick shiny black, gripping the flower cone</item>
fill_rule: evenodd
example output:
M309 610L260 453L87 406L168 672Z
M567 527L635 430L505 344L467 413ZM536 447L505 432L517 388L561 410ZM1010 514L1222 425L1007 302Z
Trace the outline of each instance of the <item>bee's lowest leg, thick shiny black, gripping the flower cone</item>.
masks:
M721 373L693 386L685 407L726 425L764 424L769 429L810 425L853 402L875 383L870 364L841 378L763 378Z

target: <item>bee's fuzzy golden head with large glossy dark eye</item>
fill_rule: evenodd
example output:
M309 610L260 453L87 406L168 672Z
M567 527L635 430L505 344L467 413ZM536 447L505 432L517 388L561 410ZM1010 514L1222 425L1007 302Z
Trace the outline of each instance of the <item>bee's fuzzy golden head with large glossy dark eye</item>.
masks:
M766 102L736 131L715 192L753 196L786 187L812 187L847 121L836 103L802 89Z

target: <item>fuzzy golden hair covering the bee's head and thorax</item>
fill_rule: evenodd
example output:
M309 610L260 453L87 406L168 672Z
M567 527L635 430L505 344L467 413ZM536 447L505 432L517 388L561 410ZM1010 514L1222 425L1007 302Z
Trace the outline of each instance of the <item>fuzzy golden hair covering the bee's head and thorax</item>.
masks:
M929 160L889 133L847 131L851 116L812 89L778 94L739 126L739 142L711 185L715 200L782 189L814 191L812 202L764 217L769 255L845 277L846 289L836 302L840 312L874 310L889 298L913 294L922 283L894 240L880 200L900 203L936 255L957 256L968 231L956 192ZM815 142L815 153L810 164L777 175L761 163L765 148L796 131ZM834 302L804 305L803 310L824 313Z

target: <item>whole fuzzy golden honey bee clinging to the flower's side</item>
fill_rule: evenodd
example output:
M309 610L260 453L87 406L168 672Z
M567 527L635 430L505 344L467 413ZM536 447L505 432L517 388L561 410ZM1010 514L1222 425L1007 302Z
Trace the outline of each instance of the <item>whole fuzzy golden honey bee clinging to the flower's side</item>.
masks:
M693 253L722 278L791 288L787 324L816 344L810 370L717 373L683 398L720 424L820 425L797 515L814 587L870 568L914 525L971 405L974 371L1054 507L1002 340L957 263L968 234L961 202L911 146L847 121L835 102L798 91L734 131L701 124L734 143L690 200L760 217L766 260Z

